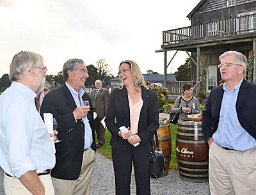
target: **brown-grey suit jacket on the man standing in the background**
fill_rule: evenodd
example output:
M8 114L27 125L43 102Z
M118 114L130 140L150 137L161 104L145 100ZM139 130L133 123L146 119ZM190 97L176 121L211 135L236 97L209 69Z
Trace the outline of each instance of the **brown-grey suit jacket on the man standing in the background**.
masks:
M97 113L97 117L104 118L104 116L106 116L107 114L108 99L109 99L108 90L100 88L98 93L96 93L96 90L92 90L91 99L92 99L92 102L94 100L92 104L93 104L93 107L95 108L94 111Z

